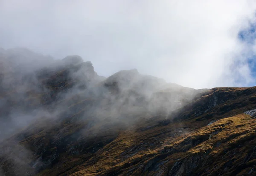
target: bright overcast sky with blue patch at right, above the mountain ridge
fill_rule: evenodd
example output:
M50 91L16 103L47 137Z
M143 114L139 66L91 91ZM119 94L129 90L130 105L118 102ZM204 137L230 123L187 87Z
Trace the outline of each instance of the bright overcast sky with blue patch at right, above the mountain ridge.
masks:
M78 54L103 76L252 86L255 12L255 0L0 0L0 47Z

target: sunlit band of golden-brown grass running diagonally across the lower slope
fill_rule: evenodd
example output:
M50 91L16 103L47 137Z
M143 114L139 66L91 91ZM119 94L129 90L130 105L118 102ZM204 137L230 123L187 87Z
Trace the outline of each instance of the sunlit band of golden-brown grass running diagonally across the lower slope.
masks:
M201 124L201 122L198 124ZM73 165L73 167L65 173L70 176L96 176L118 172L126 167L134 167L134 175L136 175L140 173L137 170L139 165L147 165L147 163L157 159L157 157L163 157L163 159L166 157L166 160L169 160L170 167L177 160L186 161L187 158L195 155L209 155L214 159L222 156L224 150L230 147L235 148L241 142L253 140L255 137L254 128L256 128L256 120L251 119L246 114L239 114L220 119L209 126L201 127L194 125L189 120L183 124L188 126L186 131L183 129L185 131L184 133L178 133L180 125L180 123L176 122L143 132L136 131L136 128L120 131L119 135L112 142L97 151L96 155L86 160L83 159L84 156L70 158L70 162L67 162L69 164L65 164L66 169L71 168L70 165ZM70 130L72 128L70 126ZM159 135L166 128L172 130L165 135ZM156 134L158 136L154 137ZM154 143L154 145L147 147L150 143ZM218 143L220 145L217 145ZM143 148L137 150L140 147ZM241 150L244 150L244 153L246 153L247 148L241 148ZM169 152L170 154L164 154L163 151L165 153ZM245 156L241 155L241 157ZM247 165L253 165L253 163L255 161L251 160ZM225 162L218 161L216 165L218 167L224 167ZM61 170L65 170L63 165L58 167L58 169L60 168L62 168ZM55 169L54 173L58 175L58 169ZM46 176L52 173L53 170L44 170L44 172L40 173L40 176ZM151 172L151 175L153 173L155 172Z

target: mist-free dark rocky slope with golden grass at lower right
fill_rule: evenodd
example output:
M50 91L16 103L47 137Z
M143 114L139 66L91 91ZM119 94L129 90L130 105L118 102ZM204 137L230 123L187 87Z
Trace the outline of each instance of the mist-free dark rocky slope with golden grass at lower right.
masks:
M91 144L97 151L91 151L89 156L88 153L73 155L64 173L74 176L254 175L256 120L243 114L248 108L255 108L255 100L250 100L253 96L246 96L248 90L255 91L255 88L238 90L243 97L241 101L247 99L245 107L229 111L224 102L212 111L225 109L225 113L221 111L209 119L201 119L207 116L203 114L173 122L154 116L142 119L129 129L116 129L118 136L106 133L113 129L104 130L102 138L95 140L102 143ZM104 144L107 137L111 142ZM97 148L99 145L104 146ZM51 173L60 174L59 165L42 175Z

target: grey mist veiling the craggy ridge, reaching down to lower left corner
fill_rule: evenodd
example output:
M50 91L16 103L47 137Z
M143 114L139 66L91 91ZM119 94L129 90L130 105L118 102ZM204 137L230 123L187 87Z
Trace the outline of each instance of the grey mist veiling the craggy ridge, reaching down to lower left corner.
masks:
M136 69L102 77L90 61L84 62L78 55L54 60L26 48L1 49L0 62L3 67L0 69L0 145L9 148L1 153L0 163L2 166L11 163L10 167L4 167L4 172L8 173L7 168L16 175L25 174L23 167L32 175L48 168L49 163L58 159L57 153L66 151L63 147L76 140L83 139L77 145L88 147L90 142L84 140L99 138L108 143L120 130L152 116L172 119L169 116L172 111L179 111L206 91L142 75ZM48 132L45 134L48 136L45 139L50 141L47 149L45 142L40 144L44 139L35 136L44 131L51 131L50 136ZM102 139L105 134L108 137ZM20 144L25 139L36 149ZM13 142L16 148L12 147ZM41 158L55 144L58 144L56 156L47 154L49 159ZM35 151L41 157L33 159Z

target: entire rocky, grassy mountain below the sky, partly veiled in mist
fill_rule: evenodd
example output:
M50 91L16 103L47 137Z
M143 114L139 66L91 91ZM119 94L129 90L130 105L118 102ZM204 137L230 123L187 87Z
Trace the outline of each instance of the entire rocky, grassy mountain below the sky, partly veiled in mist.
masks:
M0 48L0 175L256 175L256 87L186 88Z

